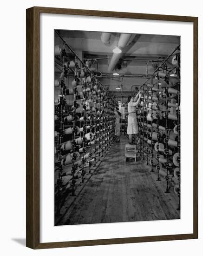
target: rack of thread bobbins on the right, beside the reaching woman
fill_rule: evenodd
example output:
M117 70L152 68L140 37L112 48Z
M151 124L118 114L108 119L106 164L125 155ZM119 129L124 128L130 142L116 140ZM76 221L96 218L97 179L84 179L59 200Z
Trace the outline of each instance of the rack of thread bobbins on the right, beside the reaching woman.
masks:
M171 61L171 63L169 63ZM178 46L141 88L137 108L137 153L157 181L164 176L166 193L171 186L179 197L180 209L180 47Z

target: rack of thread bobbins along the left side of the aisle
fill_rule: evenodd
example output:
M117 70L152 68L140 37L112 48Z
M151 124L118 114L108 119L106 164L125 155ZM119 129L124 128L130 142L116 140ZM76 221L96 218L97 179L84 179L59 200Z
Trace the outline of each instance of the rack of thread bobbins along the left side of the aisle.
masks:
M85 168L91 173L92 165L96 166L111 147L115 131L114 108L117 107L113 95L95 78L88 64L62 41L62 49L59 45L55 47L56 67L60 66L61 74L54 82L59 89L59 94L55 95L54 132L58 214L63 193L70 190L71 195L75 195L76 182L79 178L84 182ZM75 60L69 59L69 51ZM65 179L64 183L67 176L70 179L68 182Z

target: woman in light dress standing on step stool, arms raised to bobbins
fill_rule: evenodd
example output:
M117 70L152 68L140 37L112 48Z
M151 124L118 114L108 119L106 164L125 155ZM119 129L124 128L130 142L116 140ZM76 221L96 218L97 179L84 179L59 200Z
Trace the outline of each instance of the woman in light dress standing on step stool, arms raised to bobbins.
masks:
M133 144L132 138L138 134L138 121L136 116L136 106L139 104L141 98L140 91L135 97L128 97L128 128L127 134L129 136L129 144ZM134 138L135 141L135 138Z

